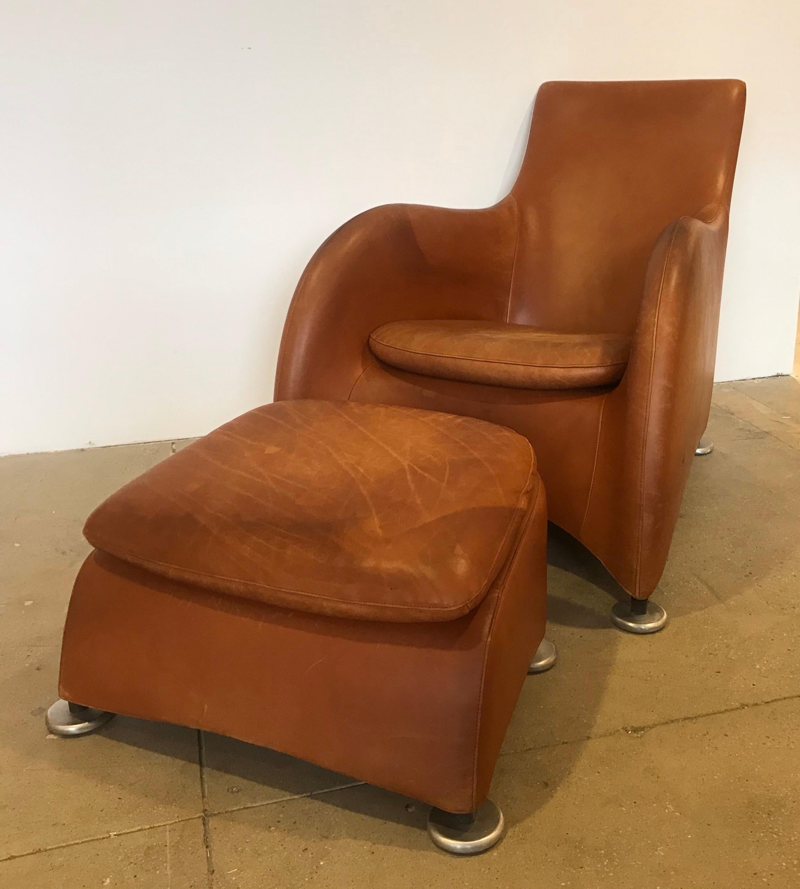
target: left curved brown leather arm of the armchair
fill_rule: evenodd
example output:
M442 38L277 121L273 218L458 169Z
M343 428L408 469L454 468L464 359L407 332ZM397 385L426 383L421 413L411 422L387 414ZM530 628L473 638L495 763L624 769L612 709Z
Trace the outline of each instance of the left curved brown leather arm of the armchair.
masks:
M484 210L387 204L316 251L286 317L275 399L347 398L372 356L370 333L419 318L505 320L516 201Z

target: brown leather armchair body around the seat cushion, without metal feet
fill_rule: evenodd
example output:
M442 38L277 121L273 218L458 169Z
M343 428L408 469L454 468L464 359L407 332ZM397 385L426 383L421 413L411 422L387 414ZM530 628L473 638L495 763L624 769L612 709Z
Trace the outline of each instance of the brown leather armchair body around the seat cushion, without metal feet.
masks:
M286 319L276 400L403 404L515 429L536 452L550 518L648 597L708 420L744 107L737 80L543 84L500 204L376 207L319 248ZM560 390L456 378L464 359L443 371L370 346L385 325L422 321L631 345L619 382Z

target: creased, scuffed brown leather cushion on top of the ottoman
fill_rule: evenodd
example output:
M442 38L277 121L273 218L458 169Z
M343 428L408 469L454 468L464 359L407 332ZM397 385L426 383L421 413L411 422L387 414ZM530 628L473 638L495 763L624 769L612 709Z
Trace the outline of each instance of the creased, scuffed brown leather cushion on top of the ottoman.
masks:
M173 580L306 612L447 621L474 608L539 485L531 446L451 414L284 401L102 503L94 547Z

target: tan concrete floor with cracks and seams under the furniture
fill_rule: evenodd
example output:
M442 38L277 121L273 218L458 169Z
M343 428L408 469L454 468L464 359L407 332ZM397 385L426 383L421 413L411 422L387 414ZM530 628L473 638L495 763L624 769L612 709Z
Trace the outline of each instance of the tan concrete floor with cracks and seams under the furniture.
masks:
M492 797L508 835L454 859L427 807L291 757L117 717L48 737L84 517L180 443L0 460L0 886L771 889L800 885L800 383L716 387L656 599L550 535L560 661L529 677Z

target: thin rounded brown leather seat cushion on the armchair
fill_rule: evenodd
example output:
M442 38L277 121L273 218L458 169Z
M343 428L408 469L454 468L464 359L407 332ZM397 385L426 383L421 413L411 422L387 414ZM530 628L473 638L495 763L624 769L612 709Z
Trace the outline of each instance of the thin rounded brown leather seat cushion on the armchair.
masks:
M556 333L500 321L393 321L372 332L370 348L385 364L444 380L589 388L621 379L630 337Z

